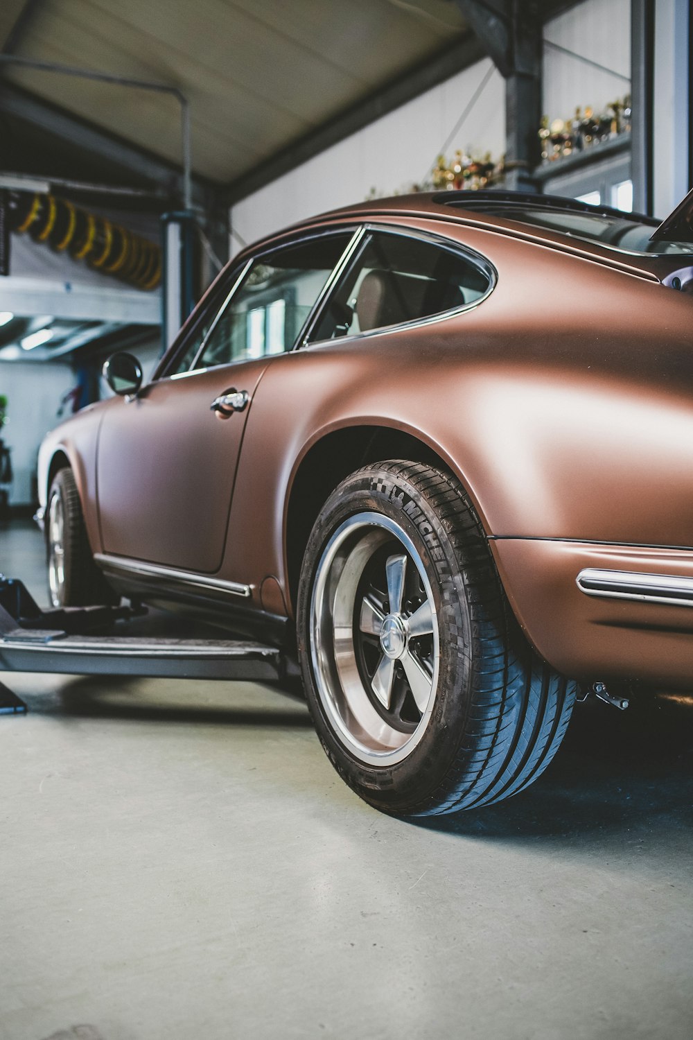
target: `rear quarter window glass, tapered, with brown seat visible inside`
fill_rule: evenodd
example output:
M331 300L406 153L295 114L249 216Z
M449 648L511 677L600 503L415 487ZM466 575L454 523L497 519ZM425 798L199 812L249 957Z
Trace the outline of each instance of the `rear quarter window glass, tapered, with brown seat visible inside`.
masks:
M335 339L442 314L473 304L490 274L461 253L423 238L368 235L310 340Z

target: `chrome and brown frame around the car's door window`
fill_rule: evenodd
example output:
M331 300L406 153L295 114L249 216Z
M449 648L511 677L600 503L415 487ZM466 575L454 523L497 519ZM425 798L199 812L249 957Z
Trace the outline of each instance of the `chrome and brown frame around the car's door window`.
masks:
M196 367L205 350L205 347L207 346L210 336L214 332L214 329L218 324L221 315L224 313L234 294L242 285L245 276L247 275L252 264L255 264L258 260L261 260L264 256L276 253L278 250L285 248L291 249L293 246L300 245L304 242L310 242L312 239L323 238L327 235L329 236L347 235L349 233L351 233L351 237L348 239L339 260L332 267L331 271L329 272L329 276L327 277L325 284L323 285L317 300L315 301L313 307L311 308L310 313L306 315L305 320L299 328L291 348L289 350L283 352L285 355L292 354L301 344L305 333L305 329L308 324L311 322L316 312L316 309L322 305L325 294L331 290L331 286L334 285L335 280L341 274L344 265L349 262L354 249L357 248L358 242L363 238L364 226L361 222L354 224L336 225L327 228L318 228L308 232L303 231L302 233L296 235L295 237L292 236L279 242L273 241L267 243L266 245L259 249L257 252L254 252L250 255L246 256L245 259L240 261L240 263L231 265L228 272L222 271L221 275L219 276L218 284L212 286L208 303L201 308L199 313L196 315L193 324L186 332L185 336L183 336L180 341L178 340L175 341L171 344L170 348L166 352L166 354L164 354L150 382L160 383L164 380L188 379L191 375L195 375L201 372L211 371L214 368L228 368L232 365L239 365L243 364L244 362L247 362L248 360L247 358L238 358L235 361L226 361L219 365L202 366L199 368ZM199 342L199 346L197 347L197 350L195 352L192 361L190 362L190 367L183 372L171 371L171 368L176 367L177 362L180 362L180 360L183 357L185 357L185 354L187 353L191 342L194 340L196 336L199 335L201 328L204 327L205 321L207 318L209 318L210 314L213 314L214 316L212 318L212 321L210 322L210 327L207 330L207 333ZM281 356L282 355L279 354L266 355L266 357L271 357L271 358L278 358ZM265 357L265 355L263 355L263 357ZM256 360L261 360L261 359L258 358Z

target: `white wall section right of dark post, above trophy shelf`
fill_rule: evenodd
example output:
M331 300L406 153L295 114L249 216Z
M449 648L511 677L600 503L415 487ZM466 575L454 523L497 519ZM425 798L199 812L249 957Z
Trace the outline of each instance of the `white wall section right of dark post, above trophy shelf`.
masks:
M585 0L548 22L543 37L621 76L631 75L631 0ZM578 105L583 111L588 105L599 111L630 89L618 76L543 49L542 108L552 120L572 116Z

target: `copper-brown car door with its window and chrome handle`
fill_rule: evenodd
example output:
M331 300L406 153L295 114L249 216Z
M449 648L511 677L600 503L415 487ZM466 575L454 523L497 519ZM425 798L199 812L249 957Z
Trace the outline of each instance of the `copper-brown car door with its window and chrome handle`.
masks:
M172 348L161 376L104 410L97 483L105 553L219 569L256 389L272 357L295 343L352 238L340 230L258 253Z

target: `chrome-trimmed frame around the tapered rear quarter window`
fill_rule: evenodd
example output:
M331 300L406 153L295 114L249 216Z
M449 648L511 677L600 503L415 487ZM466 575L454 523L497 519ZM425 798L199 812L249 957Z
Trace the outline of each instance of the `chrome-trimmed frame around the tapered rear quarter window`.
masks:
M373 233L383 233L389 235L396 235L400 238L416 238L420 241L424 241L429 245L435 245L439 249L446 250L448 253L453 253L456 256L463 257L469 263L475 266L480 274L482 274L488 280L488 287L485 292L483 292L476 300L473 300L469 304L461 304L459 307L450 307L445 311L438 311L436 314L428 314L421 318L411 318L408 321L397 321L394 324L381 326L379 329L369 329L366 332L356 332L346 336L331 337L330 339L316 339L311 340L310 336L315 328L320 323L324 312L329 307L330 302L341 287L342 280L347 278L352 270L352 262L357 263L357 257L353 256L355 249L351 251L351 257L346 264L341 265L341 270L339 277L332 280L332 285L328 294L324 294L322 302L316 302L316 308L309 315L309 319L304 328L301 330L301 335L299 337L299 342L294 349L306 349L309 347L320 347L325 346L329 343L349 343L354 340L366 339L370 336L382 336L393 332L399 332L400 329L417 329L420 326L433 324L436 321L447 320L456 314L463 314L465 311L471 311L482 304L491 294L496 285L498 284L498 271L490 260L478 253L476 250L471 249L469 245L464 245L461 242L452 241L450 238L446 238L444 235L437 235L433 231L420 231L418 228L403 228L401 225L391 225L391 224L363 224L362 225L362 235L358 238L356 246L362 244L367 236ZM354 243L352 243L353 245ZM344 260L344 257L342 258ZM326 287L326 286L325 286Z

